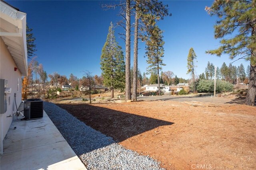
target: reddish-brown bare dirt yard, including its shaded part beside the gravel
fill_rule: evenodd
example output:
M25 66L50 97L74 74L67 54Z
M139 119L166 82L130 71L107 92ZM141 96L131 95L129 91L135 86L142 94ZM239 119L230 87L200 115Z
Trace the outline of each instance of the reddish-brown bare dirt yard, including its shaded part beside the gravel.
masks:
M256 169L256 107L234 97L194 101L55 102L163 168Z

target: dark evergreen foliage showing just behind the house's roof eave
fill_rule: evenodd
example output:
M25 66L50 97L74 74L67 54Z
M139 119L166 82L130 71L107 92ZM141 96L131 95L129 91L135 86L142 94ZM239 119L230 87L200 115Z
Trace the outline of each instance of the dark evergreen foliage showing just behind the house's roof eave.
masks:
M27 39L27 53L28 53L28 58L31 59L30 57L34 56L34 52L36 51L36 45L34 44L34 41L36 38L33 36L32 33L32 28L28 27L28 24L26 25L26 39Z

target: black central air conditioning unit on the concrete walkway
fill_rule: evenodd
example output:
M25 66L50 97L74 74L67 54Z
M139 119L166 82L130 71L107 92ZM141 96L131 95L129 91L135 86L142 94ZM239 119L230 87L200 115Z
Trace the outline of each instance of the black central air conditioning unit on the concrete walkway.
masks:
M40 119L44 114L44 103L40 99L28 99L24 102L24 119Z

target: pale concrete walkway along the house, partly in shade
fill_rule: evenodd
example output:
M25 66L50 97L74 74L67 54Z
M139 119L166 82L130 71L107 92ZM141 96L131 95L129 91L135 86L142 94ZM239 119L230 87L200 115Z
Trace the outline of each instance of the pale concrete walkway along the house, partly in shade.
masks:
M86 170L45 112L42 119L14 118L3 141L1 170Z

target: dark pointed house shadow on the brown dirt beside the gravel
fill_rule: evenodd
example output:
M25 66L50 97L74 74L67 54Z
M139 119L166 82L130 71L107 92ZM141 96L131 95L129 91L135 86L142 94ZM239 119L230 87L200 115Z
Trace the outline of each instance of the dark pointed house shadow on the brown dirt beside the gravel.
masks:
M86 125L121 142L156 127L172 125L172 122L125 113L89 104L56 104Z

